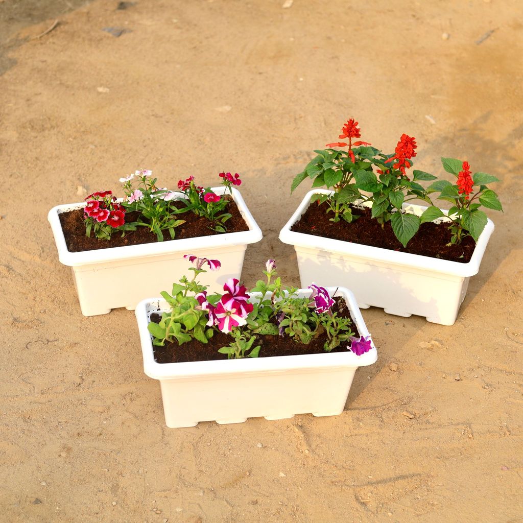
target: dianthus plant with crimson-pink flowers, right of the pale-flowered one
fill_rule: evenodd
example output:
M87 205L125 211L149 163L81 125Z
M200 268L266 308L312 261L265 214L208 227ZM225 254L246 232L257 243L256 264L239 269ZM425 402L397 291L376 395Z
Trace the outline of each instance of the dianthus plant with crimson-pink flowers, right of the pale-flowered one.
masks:
M238 173L220 173L222 178L222 185L225 185L226 189L232 194L232 185L240 185L242 180ZM210 187L204 189L203 187L197 186L194 182L194 176L189 176L186 180L178 181L178 190L183 192L186 196L183 203L185 203L185 211L194 212L197 216L202 216L209 220L209 228L217 232L226 232L227 228L225 222L231 218L231 214L223 212L228 204L228 200L224 196L215 194Z

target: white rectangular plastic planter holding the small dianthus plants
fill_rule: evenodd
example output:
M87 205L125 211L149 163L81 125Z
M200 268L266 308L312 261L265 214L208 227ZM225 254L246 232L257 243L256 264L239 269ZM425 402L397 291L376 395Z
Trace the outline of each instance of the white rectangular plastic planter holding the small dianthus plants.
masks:
M225 187L213 187L212 190L223 194ZM200 275L202 285L209 285L211 291L222 290L229 278L240 279L247 245L261 240L261 230L240 192L233 188L232 197L247 223L248 231L77 253L67 250L59 214L82 209L85 202L53 207L48 219L58 257L62 264L73 270L82 314L107 314L118 307L133 310L147 296L160 295L163 290L169 292L173 282L187 274L190 264L183 258L184 254L220 260L220 270L208 270Z

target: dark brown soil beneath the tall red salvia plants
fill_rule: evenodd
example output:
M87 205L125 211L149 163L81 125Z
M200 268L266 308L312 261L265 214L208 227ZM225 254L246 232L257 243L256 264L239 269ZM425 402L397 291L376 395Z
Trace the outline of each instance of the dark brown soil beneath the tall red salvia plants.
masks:
M386 223L384 228L377 220L371 218L369 208L353 208L354 214L360 218L352 223L340 220L337 223L328 220L332 213L327 215L327 204L311 203L309 208L296 222L291 230L314 236L323 236L332 240L359 243L372 247L381 247L390 251L420 254L431 258L441 258L450 261L467 263L472 257L476 246L471 236L463 238L460 245L447 245L450 243L450 231L444 223L422 223L418 232L407 243L406 247L397 240L392 226Z

